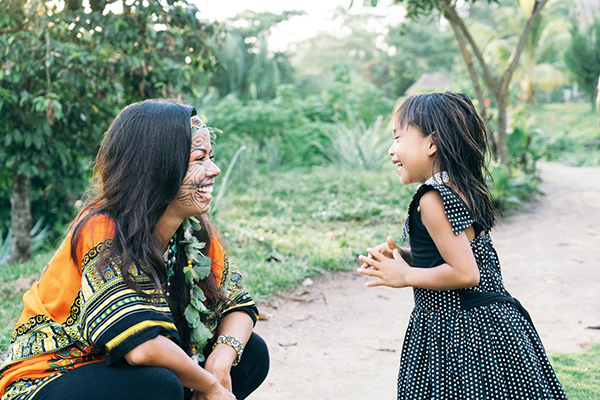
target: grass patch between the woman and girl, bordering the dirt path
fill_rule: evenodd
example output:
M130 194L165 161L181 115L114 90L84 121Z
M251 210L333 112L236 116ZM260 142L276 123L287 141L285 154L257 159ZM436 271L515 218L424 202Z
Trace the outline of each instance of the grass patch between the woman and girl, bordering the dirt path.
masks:
M387 235L399 241L413 189L393 171L272 173L232 187L217 222L263 300L321 271L355 268L358 255Z

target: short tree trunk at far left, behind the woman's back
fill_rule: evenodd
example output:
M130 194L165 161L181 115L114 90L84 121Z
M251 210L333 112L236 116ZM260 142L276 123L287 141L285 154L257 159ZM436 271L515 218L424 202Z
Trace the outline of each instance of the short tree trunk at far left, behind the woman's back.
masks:
M26 261L31 258L31 179L13 171L10 226L9 263Z

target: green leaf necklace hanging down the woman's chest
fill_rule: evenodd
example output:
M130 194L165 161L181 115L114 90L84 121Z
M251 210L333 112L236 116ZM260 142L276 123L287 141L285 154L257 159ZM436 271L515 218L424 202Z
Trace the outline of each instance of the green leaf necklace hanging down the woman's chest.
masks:
M206 247L206 243L201 242L194 236L194 231L200 231L202 225L194 218L189 217L183 220L183 239L179 241L179 245L183 245L183 249L177 247L177 233L169 241L169 246L165 253L167 266L167 291L166 295L170 295L171 279L175 275L175 263L177 260L177 252L183 251L187 258L187 266L183 267L183 275L185 284L190 289L190 303L184 311L184 317L190 328L190 341L192 344L192 360L196 362L204 361L202 350L212 339L213 334L202 322L203 315L209 315L214 311L209 310L204 305L206 295L199 286L199 283L208 277L211 271L212 260L210 257L202 254L202 250Z

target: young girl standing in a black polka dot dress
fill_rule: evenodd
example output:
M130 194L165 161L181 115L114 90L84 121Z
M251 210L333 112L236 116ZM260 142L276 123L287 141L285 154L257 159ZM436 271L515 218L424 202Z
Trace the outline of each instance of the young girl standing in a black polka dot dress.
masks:
M502 283L489 232L486 134L469 98L408 98L393 115L392 163L403 184L422 182L403 231L358 272L367 286L414 288L398 399L565 399L531 319Z

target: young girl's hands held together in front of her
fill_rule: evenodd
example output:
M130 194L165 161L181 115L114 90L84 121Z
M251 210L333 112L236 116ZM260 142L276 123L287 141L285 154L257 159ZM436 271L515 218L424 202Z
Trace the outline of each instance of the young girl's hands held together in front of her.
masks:
M382 249L381 251L377 250L377 248L367 249L369 252L368 257L362 255L358 257L363 264L357 272L377 278L367 282L366 286L389 286L395 288L409 286L406 278L411 267L402 258L397 246L392 249L391 245L395 246L394 241L388 237L386 243L377 246L377 248ZM386 257L384 253L391 253L391 257Z

